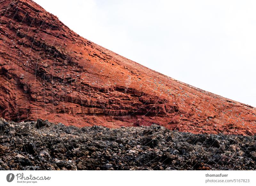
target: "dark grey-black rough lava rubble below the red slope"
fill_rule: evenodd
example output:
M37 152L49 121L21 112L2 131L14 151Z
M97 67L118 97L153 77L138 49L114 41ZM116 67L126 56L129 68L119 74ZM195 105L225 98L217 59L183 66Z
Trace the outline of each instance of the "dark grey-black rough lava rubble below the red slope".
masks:
M254 136L0 119L0 170L255 170Z

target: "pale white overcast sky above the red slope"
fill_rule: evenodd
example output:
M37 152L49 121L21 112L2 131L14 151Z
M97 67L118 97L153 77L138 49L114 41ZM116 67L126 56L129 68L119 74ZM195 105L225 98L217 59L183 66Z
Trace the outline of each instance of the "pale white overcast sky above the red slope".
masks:
M256 106L256 1L35 2L94 43L179 81Z

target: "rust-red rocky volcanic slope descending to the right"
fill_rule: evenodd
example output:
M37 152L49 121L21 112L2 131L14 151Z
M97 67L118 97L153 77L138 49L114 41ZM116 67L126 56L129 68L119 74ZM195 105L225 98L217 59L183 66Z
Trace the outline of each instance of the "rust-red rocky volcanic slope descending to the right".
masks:
M0 20L0 117L256 134L254 107L92 43L31 0L0 0Z

